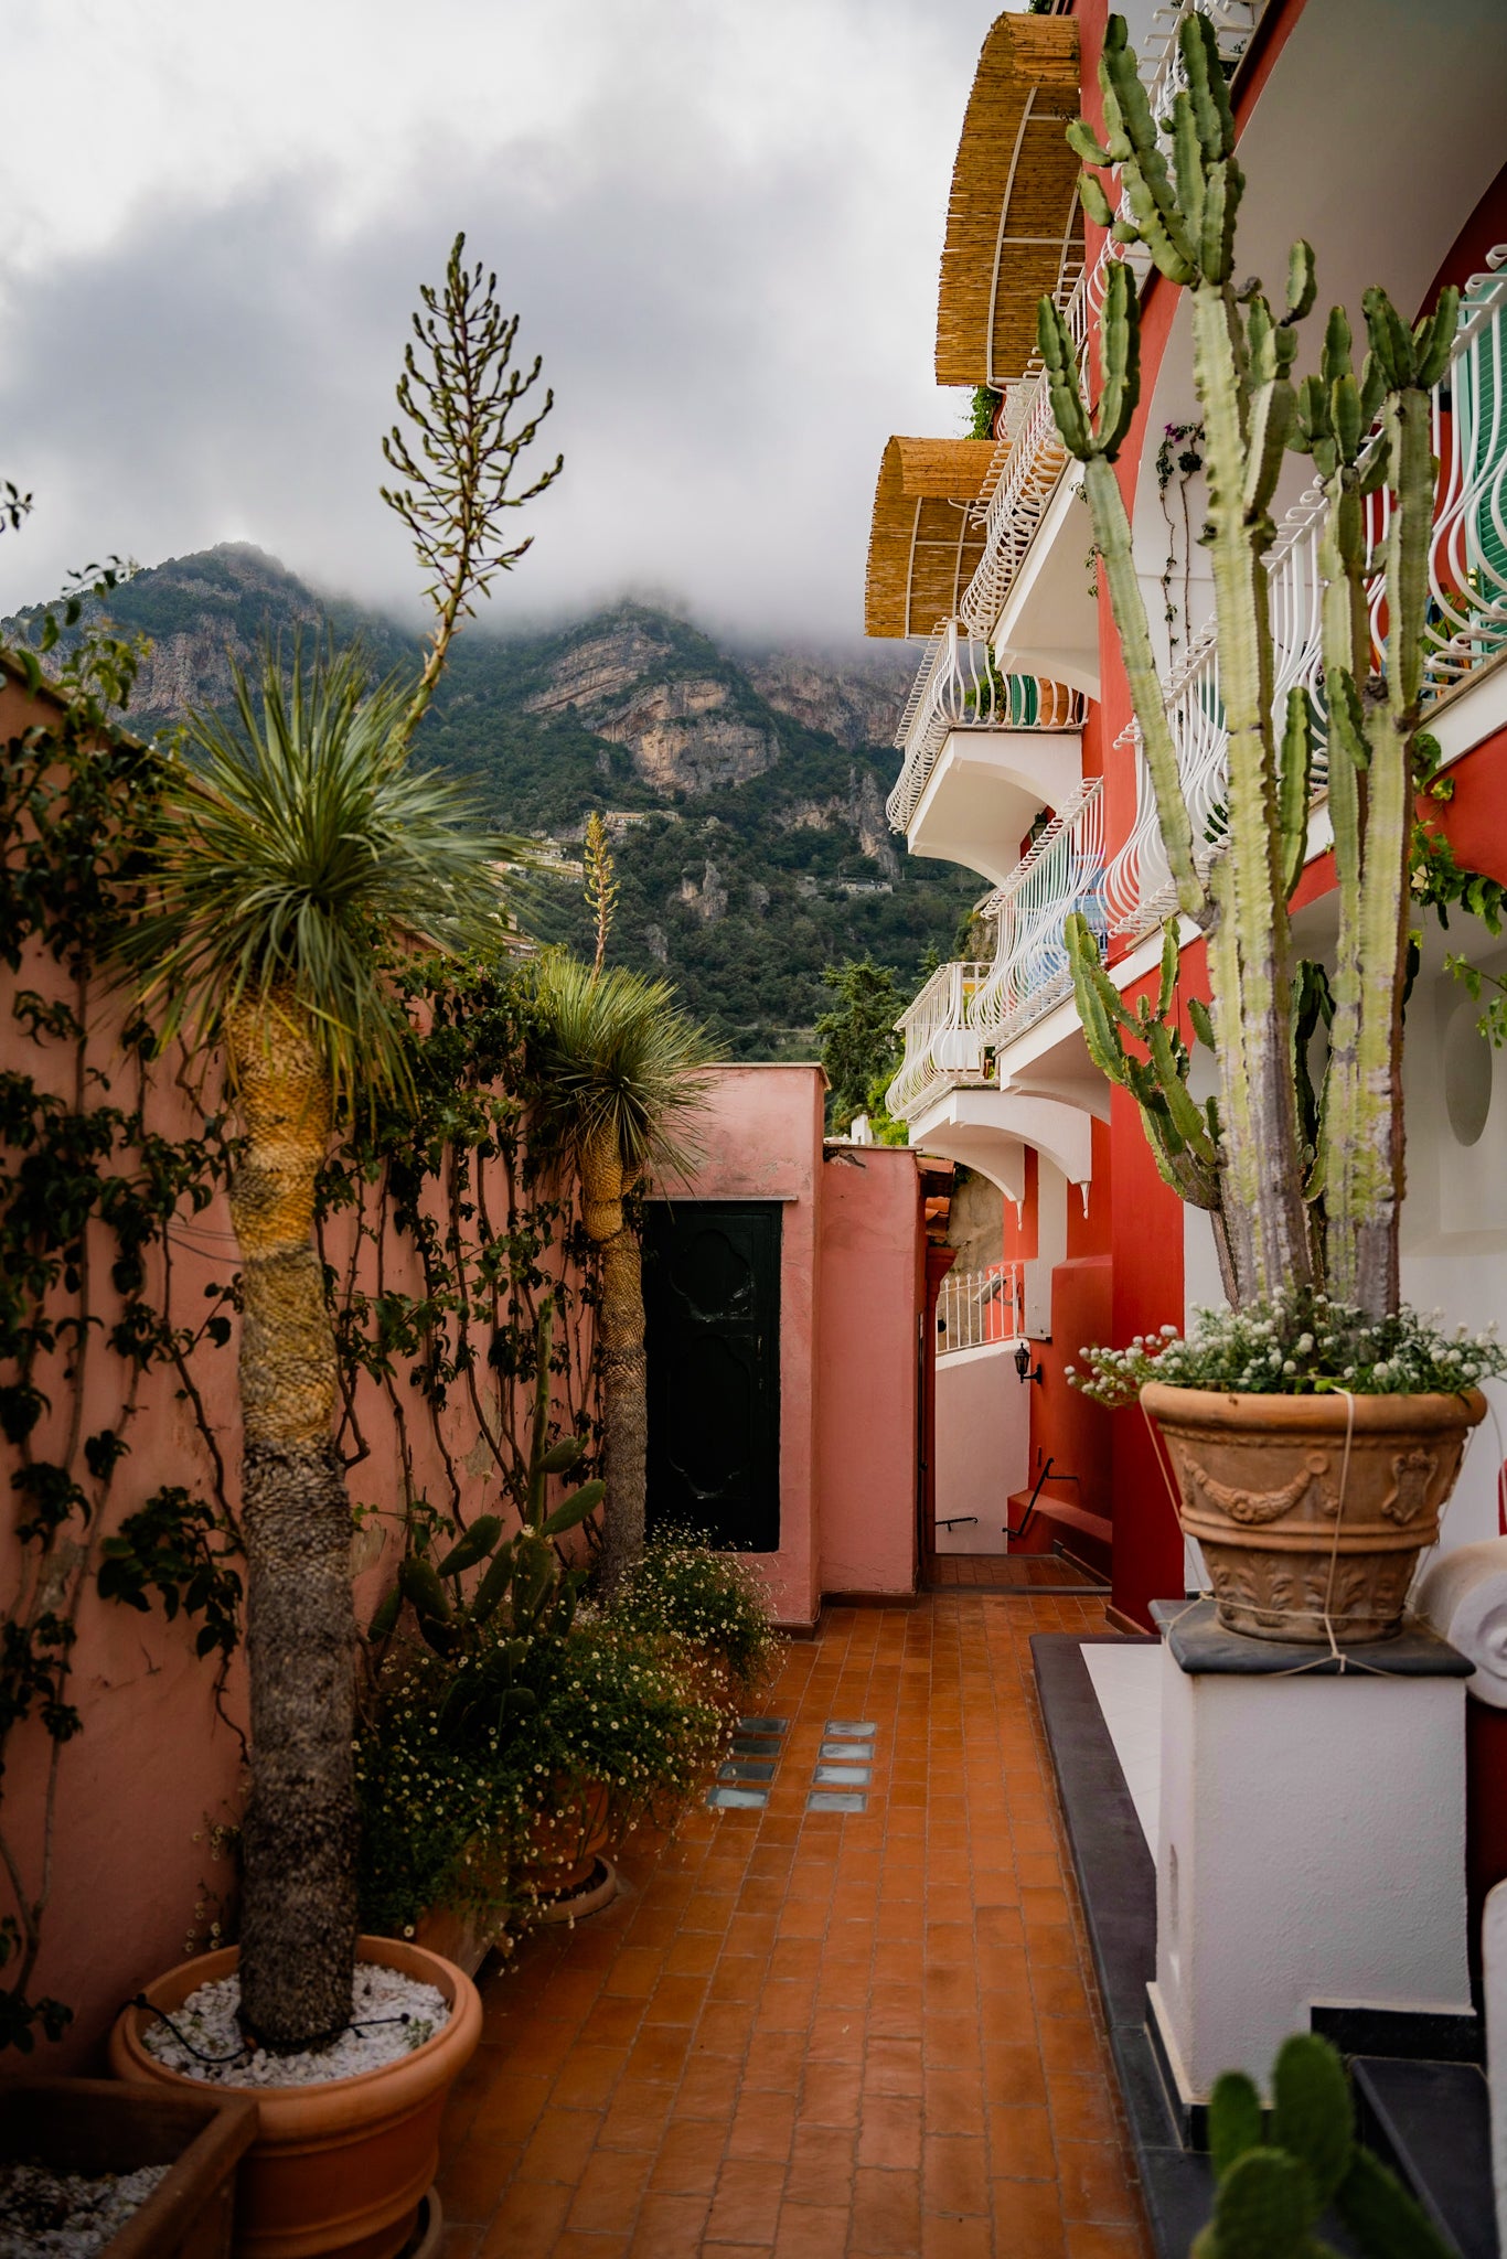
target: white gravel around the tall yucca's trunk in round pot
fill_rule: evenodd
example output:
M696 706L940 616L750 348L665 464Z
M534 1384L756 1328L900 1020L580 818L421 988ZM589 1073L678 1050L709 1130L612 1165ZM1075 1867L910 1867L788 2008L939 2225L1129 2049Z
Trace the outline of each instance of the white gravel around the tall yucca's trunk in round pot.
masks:
M239 1977L217 1977L169 2011L172 2026L160 2017L145 2017L142 2042L169 2072L210 2085L314 2087L325 2078L355 2078L411 2056L450 2022L450 2006L436 1986L375 1961L357 1961L350 2029L303 2056L273 2056L260 2047L251 2051L237 2022L239 2004Z

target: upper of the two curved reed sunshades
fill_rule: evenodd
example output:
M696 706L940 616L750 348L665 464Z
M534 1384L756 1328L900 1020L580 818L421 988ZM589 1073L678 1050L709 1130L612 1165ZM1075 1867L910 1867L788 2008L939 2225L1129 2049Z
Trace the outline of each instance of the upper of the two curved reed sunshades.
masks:
M1082 262L1078 23L1001 16L983 43L947 206L938 384L1003 389L1037 343L1037 298Z

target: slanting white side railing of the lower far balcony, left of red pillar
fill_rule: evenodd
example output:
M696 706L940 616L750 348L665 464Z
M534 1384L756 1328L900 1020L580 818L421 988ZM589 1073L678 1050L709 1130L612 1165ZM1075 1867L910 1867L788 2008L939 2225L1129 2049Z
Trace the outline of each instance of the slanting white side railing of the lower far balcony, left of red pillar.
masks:
M1089 777L1051 820L1019 870L983 904L996 919L990 978L972 998L969 1021L987 1050L1012 1044L1069 994L1073 974L1062 924L1082 913L1105 933L1103 779Z

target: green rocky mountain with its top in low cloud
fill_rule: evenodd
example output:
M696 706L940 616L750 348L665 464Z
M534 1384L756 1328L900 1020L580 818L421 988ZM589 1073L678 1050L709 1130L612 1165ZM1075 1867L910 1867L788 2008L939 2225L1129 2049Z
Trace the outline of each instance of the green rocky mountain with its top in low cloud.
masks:
M138 574L111 617L151 637L131 705L142 732L221 705L230 660L264 635L328 623L382 671L420 648L246 544ZM913 671L908 648L737 653L642 603L551 633L468 626L418 750L474 777L502 829L569 861L599 809L619 879L612 956L671 974L725 1055L809 1057L825 965L872 956L911 983L926 951L951 951L978 890L972 872L906 854L883 815ZM538 924L587 944L578 879L542 883Z

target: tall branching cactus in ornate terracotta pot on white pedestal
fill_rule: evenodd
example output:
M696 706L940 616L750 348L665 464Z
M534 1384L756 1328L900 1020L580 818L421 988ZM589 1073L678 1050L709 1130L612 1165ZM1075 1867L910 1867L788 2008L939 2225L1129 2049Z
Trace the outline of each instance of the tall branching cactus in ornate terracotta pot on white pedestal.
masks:
M1080 120L1069 140L1089 167L1118 167L1123 208L1084 172L1091 219L1141 246L1186 289L1204 425L1220 700L1229 732L1225 806L1207 840L1177 770L1157 680L1130 517L1114 472L1139 400L1132 269L1107 269L1100 386L1089 413L1057 307L1039 343L1064 445L1084 492L1157 795L1177 906L1209 935L1209 1010L1195 1039L1218 1059L1218 1098L1195 1105L1177 1014L1177 940L1161 994L1130 1012L1082 917L1069 919L1078 1010L1096 1064L1141 1116L1164 1179L1209 1209L1229 1315L1195 1344L1100 1355L1096 1392L1141 1403L1159 1423L1184 1527L1204 1543L1222 1620L1261 1638L1385 1638L1396 1631L1419 1550L1437 1536L1469 1428L1473 1383L1502 1371L1493 1342L1448 1340L1412 1317L1399 1288L1403 1200L1401 1039L1408 987L1408 879L1423 691L1428 538L1435 463L1430 386L1446 368L1457 294L1414 330L1385 291L1365 296L1369 352L1353 364L1335 307L1319 368L1292 380L1313 307L1308 244L1295 244L1286 305L1236 287L1243 174L1213 32L1179 27L1186 86L1159 142L1125 23L1100 59L1105 140ZM1283 452L1310 456L1324 490L1324 700L1295 687L1274 712L1265 553ZM1365 504L1385 520L1385 678L1371 671ZM1335 971L1304 962L1288 904L1304 867L1315 725L1326 727L1329 815L1340 935ZM1310 1082L1310 1046L1326 1069Z

